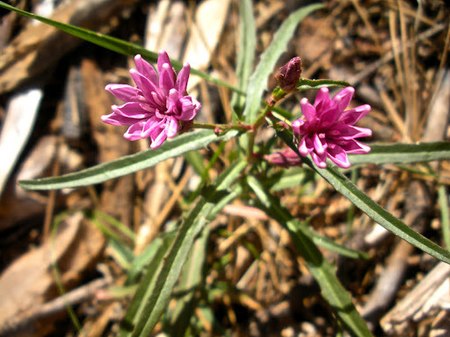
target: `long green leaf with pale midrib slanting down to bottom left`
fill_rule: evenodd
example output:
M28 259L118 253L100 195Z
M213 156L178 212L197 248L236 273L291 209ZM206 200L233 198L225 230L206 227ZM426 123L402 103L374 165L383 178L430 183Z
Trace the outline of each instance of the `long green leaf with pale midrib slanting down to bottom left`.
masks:
M133 307L136 315L127 314L125 323L128 324L125 326L131 325L132 329L123 329L120 336L144 337L153 330L161 314L167 309L172 289L178 280L195 238L208 222L208 217L212 216L211 211L213 209L219 211L214 208L216 203L228 196L229 192L226 189L239 178L246 166L246 162L240 162L230 167L219 176L214 187L206 189L200 196L195 207L179 226L175 240L164 257L163 263L157 269L152 270L155 273L155 282L147 284L147 293L151 294L150 297L141 301L137 310Z

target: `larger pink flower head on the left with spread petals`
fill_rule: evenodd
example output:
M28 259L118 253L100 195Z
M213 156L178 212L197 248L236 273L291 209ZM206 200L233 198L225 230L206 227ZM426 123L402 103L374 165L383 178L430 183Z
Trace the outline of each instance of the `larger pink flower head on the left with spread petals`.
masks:
M158 72L141 55L134 62L136 69L130 69L130 75L136 87L108 84L105 89L125 104L113 105L112 113L102 116L102 121L129 126L126 139L149 138L150 147L156 149L188 125L201 105L186 92L188 64L177 75L166 52L159 54Z

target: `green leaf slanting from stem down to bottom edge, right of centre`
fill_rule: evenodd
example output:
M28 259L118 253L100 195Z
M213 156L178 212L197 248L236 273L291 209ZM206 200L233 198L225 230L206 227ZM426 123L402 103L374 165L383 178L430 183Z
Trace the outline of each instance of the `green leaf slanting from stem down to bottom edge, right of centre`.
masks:
M340 321L354 336L372 336L365 321L353 305L350 294L339 282L333 266L325 260L314 244L306 226L299 226L299 222L293 219L289 211L282 207L279 200L272 196L256 178L249 176L247 182L267 215L288 230L299 255L305 259L311 274L319 284L323 298L335 310Z

